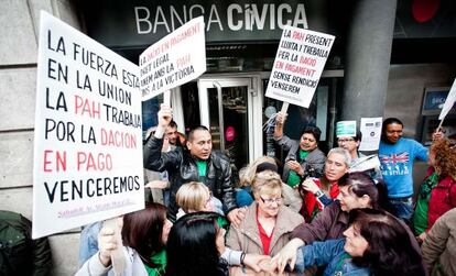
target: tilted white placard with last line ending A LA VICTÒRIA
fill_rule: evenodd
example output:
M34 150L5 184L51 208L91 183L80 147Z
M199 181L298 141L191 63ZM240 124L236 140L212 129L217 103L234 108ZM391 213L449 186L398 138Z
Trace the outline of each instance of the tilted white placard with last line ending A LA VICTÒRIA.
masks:
M188 82L206 71L204 19L180 26L140 56L142 100Z

